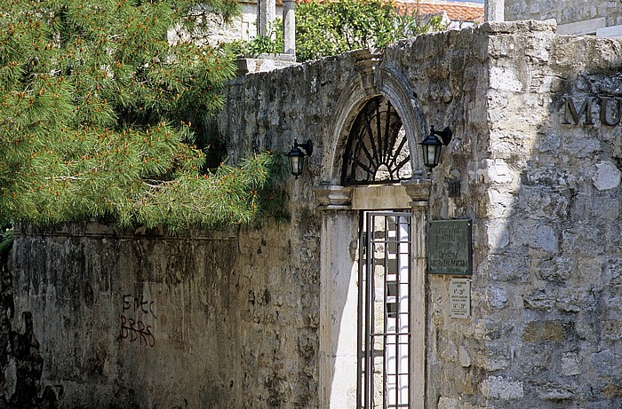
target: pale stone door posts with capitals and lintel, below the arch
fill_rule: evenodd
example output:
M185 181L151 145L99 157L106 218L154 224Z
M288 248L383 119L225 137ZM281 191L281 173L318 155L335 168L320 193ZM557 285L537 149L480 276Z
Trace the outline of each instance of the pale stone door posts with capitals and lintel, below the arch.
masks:
M402 186L316 188L322 210L320 262L320 407L355 409L358 369L359 210L412 210L411 398L424 409L426 397L426 230L431 182ZM384 198L383 201L380 201Z

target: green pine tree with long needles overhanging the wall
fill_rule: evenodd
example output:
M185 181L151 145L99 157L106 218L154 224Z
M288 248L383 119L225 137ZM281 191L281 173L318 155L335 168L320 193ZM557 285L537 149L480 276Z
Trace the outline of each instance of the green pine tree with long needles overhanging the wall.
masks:
M231 4L209 5L227 17ZM189 0L0 6L0 223L114 216L175 230L247 223L261 213L258 192L274 156L208 170L194 145L234 73L223 51L167 41L175 24L193 32L187 12L196 7Z

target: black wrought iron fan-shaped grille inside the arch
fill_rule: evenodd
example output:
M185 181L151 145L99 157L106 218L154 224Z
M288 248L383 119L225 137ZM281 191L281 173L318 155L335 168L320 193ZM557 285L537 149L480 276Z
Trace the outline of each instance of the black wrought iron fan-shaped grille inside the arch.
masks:
M411 175L411 154L402 119L387 98L371 98L348 135L342 185L395 183Z

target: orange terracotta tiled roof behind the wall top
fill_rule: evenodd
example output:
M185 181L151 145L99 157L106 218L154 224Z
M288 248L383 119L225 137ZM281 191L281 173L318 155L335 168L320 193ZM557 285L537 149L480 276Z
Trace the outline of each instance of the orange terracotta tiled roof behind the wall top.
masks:
M483 21L483 4L448 1L395 1L395 7L400 14L419 15L443 14L452 21Z

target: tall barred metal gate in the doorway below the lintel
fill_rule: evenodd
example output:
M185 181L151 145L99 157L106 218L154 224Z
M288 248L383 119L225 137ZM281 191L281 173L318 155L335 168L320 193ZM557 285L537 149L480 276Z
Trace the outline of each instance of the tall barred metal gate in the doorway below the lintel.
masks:
M359 256L358 407L411 407L411 214L364 212Z

